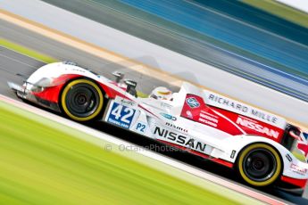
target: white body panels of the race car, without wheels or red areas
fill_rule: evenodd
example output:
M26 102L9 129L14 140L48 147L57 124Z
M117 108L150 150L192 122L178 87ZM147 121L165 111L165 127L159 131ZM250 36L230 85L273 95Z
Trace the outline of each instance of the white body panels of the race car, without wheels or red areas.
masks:
M243 110L232 110L232 108L226 104L220 104L217 101L209 101L209 96L212 94L211 92L201 90L188 83L183 83L179 93L173 94L173 101L136 98L126 93L120 86L116 86L110 79L96 75L74 64L56 62L47 64L34 72L27 80L29 84L24 86L27 86L26 90L30 90L31 86L37 85L42 78L49 79L44 81L45 83L52 82L52 79L59 78L64 74L77 74L91 78L124 95L124 97L117 96L115 99L109 101L104 113L104 121L153 139L180 145L187 148L188 152L200 152L208 155L210 158L221 159L231 163L236 162L237 154L246 147L247 144L268 143L279 151L283 161L283 176L296 179L308 178L307 163L297 160L285 147L271 139L258 135L245 135L245 132L243 132L243 135L229 135L229 133L217 128L180 117L186 94L196 94L201 96L206 103L221 107L221 109L246 115L247 117L256 118L255 116L249 116L248 112L244 113L245 111L243 112ZM46 85L38 86L56 85L46 83ZM232 100L229 99L229 101ZM242 107L243 106L246 106L248 110L258 110L246 104L243 104ZM284 119L274 116L271 113L266 112L266 114L270 117L259 120L273 126L281 127L282 129L286 127L287 123ZM287 155L290 157L289 160L287 159Z

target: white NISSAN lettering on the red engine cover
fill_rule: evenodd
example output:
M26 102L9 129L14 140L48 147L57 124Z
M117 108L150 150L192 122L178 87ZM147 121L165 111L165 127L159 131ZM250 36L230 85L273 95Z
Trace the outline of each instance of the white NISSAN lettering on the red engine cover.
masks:
M240 116L238 116L236 122L237 122L238 125L253 129L254 131L256 131L260 134L265 134L265 135L273 137L275 139L279 138L279 132L278 131L271 129L269 127L262 126L261 124L258 124L256 121L249 120L249 119L246 119L246 118L241 118Z

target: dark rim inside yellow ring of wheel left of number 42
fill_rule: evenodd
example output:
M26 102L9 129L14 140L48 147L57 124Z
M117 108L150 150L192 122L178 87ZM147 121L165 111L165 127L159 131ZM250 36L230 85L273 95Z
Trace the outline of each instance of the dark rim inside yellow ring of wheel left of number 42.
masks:
M87 84L71 86L65 97L67 109L78 118L92 115L96 111L99 101L96 89Z

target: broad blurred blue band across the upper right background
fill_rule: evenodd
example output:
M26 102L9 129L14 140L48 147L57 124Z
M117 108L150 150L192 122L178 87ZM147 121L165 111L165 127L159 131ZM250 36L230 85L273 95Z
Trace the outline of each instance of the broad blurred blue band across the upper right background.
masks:
M120 1L308 75L308 29L239 1Z

